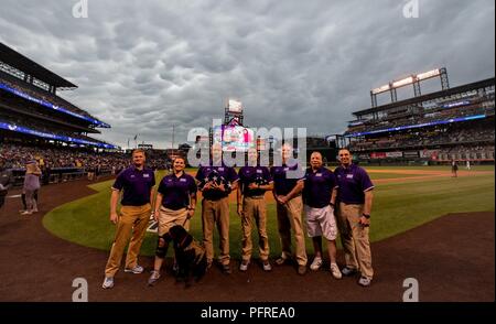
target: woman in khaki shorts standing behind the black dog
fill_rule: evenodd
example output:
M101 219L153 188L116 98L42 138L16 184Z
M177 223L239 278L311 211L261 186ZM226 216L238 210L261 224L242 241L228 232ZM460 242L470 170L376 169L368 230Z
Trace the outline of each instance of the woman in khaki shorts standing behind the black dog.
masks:
M184 172L185 159L177 156L172 165L173 173L162 179L155 199L153 217L159 223L159 241L153 271L148 280L149 285L155 284L160 278L160 269L172 240L169 229L174 225L181 225L190 230L190 219L196 208L196 182L193 176Z

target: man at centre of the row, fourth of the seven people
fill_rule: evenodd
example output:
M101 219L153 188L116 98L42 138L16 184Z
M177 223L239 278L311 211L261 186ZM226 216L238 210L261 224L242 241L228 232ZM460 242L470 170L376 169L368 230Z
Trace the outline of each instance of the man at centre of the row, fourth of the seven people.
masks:
M257 149L248 150L248 166L239 169L237 191L238 215L241 217L241 264L240 271L247 271L251 259L251 228L258 227L259 256L265 271L272 270L269 263L269 237L267 235L266 191L272 191L273 183L269 168L258 165Z

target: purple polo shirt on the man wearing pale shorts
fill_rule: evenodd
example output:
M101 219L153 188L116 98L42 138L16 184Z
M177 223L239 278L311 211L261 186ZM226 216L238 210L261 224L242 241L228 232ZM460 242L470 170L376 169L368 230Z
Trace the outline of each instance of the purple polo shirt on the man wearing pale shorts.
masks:
M303 202L312 208L323 208L331 203L331 195L337 188L336 177L326 168L320 168L315 172L312 168L305 172L305 187Z

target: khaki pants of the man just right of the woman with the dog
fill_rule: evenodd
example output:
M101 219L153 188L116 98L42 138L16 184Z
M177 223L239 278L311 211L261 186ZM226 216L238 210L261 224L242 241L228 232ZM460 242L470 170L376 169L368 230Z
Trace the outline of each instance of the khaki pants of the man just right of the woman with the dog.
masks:
M202 201L203 244L207 261L214 260L214 225L219 234L220 262L229 264L229 197L218 201Z

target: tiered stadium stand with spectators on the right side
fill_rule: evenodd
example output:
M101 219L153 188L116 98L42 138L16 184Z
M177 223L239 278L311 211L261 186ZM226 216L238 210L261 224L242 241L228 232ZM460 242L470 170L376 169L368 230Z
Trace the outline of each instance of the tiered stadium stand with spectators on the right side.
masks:
M495 79L353 112L339 147L363 163L494 163Z

